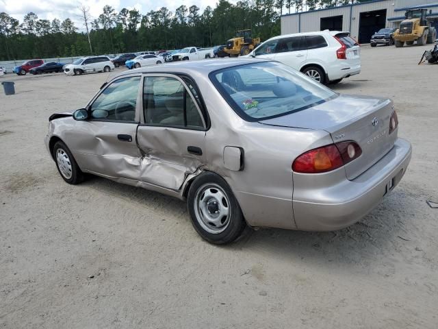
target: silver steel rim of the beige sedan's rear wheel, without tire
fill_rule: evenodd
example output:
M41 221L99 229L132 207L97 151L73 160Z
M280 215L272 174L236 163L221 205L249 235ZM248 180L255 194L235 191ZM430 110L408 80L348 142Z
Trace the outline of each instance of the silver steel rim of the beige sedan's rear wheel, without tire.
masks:
M218 184L204 184L194 197L196 221L212 234L227 229L231 218L231 204L227 193Z

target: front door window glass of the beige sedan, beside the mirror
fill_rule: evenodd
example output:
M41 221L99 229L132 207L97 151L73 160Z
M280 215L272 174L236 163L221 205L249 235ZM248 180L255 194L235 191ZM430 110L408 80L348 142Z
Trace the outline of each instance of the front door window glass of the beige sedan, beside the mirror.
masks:
M92 119L135 121L140 77L124 77L107 86L90 108Z

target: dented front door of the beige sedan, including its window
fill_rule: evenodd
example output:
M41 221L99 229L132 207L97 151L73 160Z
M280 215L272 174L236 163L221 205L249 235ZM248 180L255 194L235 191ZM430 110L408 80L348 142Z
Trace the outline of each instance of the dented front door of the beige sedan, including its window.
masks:
M139 180L142 154L136 145L136 130L142 108L140 75L120 77L88 105L90 119L75 121L73 143L82 169L110 176Z

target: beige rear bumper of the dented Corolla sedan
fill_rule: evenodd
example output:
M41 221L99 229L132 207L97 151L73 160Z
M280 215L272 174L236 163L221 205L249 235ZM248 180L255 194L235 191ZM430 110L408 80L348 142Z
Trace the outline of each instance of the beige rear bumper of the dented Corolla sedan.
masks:
M303 195L299 191L297 195L294 189L297 229L331 231L356 223L400 182L411 154L411 144L398 138L391 151L355 180L344 180L323 189L315 187L315 191L310 187Z

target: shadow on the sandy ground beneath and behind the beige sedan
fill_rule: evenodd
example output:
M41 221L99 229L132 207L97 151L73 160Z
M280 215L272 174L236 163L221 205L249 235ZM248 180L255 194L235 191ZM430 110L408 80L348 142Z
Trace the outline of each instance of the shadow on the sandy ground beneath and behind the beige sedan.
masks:
M165 217L182 219L191 226L185 202L125 184L90 176L84 185L124 199L136 206L160 212ZM370 214L354 225L335 232L302 232L260 228L245 230L234 243L218 246L231 250L251 250L281 258L311 257L322 262L366 263L380 256L390 256L400 243L407 243L409 230L405 228L407 209L413 208L409 196L396 189L387 195ZM389 215L388 215L389 214ZM200 238L201 239L201 238ZM379 255L376 257L376 255Z

